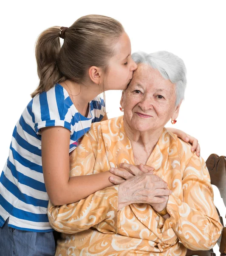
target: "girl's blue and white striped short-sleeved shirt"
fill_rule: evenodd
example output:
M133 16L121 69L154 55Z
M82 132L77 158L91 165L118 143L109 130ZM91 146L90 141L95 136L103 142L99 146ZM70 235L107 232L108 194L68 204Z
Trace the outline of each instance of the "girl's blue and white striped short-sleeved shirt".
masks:
M70 130L71 152L91 123L103 118L104 105L101 97L91 101L88 117L80 115L81 125L78 111L60 84L28 103L14 128L9 157L0 176L0 227L9 218L8 226L16 229L53 230L47 217L49 198L42 173L40 129L63 126Z

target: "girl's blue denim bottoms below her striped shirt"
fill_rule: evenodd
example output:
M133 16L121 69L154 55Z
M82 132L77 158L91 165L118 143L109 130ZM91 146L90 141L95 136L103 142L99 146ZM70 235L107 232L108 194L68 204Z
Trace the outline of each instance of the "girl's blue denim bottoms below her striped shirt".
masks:
M0 227L0 256L54 256L53 232L31 232Z

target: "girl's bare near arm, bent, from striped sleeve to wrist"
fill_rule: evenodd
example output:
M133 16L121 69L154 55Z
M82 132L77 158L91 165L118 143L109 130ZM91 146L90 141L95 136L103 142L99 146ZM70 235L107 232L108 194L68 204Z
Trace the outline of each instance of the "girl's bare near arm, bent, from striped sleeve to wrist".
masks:
M42 128L42 169L46 191L54 205L77 202L114 185L109 181L113 176L110 172L69 177L69 143L68 129L61 126Z

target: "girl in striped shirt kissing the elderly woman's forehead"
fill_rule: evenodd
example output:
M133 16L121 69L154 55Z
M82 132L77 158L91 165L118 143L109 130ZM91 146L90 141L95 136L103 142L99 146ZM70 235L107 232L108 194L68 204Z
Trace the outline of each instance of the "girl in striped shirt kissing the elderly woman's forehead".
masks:
M0 176L0 245L6 256L54 255L48 200L69 204L113 185L110 172L69 178L69 153L92 122L107 119L98 95L125 89L137 68L121 23L101 15L42 32L36 59L40 84L14 128Z

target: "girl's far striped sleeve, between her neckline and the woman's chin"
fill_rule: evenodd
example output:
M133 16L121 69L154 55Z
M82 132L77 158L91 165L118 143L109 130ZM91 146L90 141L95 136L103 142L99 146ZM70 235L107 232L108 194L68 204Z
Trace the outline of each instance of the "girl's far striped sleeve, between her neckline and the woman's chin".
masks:
M91 103L91 111L94 111L95 116L92 122L99 122L105 116L105 101L103 93L99 94Z

